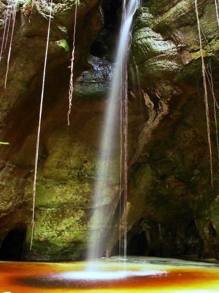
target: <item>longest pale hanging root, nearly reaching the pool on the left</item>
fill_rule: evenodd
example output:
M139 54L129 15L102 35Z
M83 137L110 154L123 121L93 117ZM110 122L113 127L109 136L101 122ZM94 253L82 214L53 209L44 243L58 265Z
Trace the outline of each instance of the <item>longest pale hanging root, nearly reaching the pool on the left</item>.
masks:
M33 241L34 209L35 209L35 194L36 194L36 179L37 179L37 162L38 162L39 142L40 142L40 124L41 124L41 115L42 115L42 102L43 102L43 93L44 93L44 84L45 84L47 52L48 52L48 45L49 45L49 31L50 31L51 14L52 14L52 0L51 0L51 6L50 6L49 28L48 28L48 34L47 34L47 46L46 46L46 54L45 54L43 82L42 82L42 94L41 94L41 103L40 103L40 118L39 118L38 134L37 134L37 147L36 147L36 157L35 157L35 172L34 172L34 183L33 183L33 214L32 214L32 223L31 223L32 224L32 235L31 235L31 242L30 242L30 250L31 250L32 241Z

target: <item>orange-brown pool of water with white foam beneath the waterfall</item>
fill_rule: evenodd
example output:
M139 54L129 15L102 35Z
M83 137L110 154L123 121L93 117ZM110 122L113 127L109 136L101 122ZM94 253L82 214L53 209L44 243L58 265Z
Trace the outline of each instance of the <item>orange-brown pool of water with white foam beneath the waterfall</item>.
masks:
M219 292L219 265L153 257L0 262L0 293Z

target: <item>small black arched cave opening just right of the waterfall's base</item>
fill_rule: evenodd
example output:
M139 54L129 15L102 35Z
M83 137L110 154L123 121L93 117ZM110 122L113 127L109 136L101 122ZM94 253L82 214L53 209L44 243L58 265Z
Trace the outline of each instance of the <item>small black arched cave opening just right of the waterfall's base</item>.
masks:
M146 247L147 239L145 233L141 231L140 234L135 234L131 237L126 248L126 253L127 255L145 256Z

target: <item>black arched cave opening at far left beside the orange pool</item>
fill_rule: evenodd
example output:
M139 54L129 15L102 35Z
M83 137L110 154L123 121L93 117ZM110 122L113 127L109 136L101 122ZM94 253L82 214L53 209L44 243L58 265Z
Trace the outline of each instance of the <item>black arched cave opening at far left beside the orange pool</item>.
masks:
M2 242L0 260L21 260L23 258L23 246L25 230L16 228L11 230Z

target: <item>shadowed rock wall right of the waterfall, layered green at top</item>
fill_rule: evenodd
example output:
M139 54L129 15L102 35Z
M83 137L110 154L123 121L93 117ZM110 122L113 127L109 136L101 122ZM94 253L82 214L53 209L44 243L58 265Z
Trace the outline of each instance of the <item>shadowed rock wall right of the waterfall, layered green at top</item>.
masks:
M165 1L162 4L147 1L146 7L136 13L131 44L135 64L132 66L137 65L138 68L141 89L150 110L150 123L143 125L136 153L130 160L129 228L132 229L136 217L143 217L147 221L155 221L157 227L160 225L159 229L168 234L172 233L172 223L179 217L185 221L189 213L195 219L203 241L199 257L205 258L205 249L209 251L212 247L206 227L213 225L218 234L218 151L214 101L208 85L212 187L194 3L172 2L174 5L172 3L170 8ZM218 23L215 3L198 1L198 8L204 61L209 73L211 66L217 97ZM138 207L136 201L139 202ZM174 231L177 231L174 225ZM150 229L153 230L153 227ZM158 242L166 246L161 255L177 254L172 247L174 240L164 237L163 243ZM210 250L208 255L218 259L218 248Z

